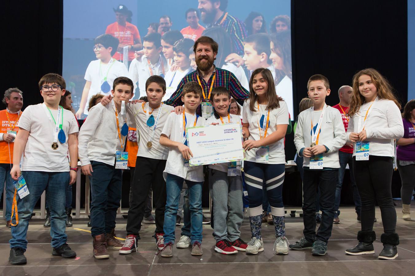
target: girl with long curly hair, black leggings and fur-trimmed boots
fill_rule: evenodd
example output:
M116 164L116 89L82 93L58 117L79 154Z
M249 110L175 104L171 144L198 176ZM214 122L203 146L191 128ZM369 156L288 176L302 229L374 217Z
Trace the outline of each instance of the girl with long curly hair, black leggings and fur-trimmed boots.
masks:
M392 201L392 173L395 148L393 139L403 136L400 104L388 81L375 69L359 71L353 77L353 96L349 109L346 137L354 143L353 171L361 197L361 231L359 243L347 254L374 254L373 231L375 197L381 209L383 250L379 259L398 257L399 244L396 211Z

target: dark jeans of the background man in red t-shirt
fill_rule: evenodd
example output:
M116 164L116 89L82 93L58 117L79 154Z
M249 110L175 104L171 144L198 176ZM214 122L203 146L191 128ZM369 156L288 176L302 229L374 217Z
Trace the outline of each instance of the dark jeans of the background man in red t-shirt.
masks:
M339 178L337 179L336 197L334 198L334 211L336 212L334 216L338 215L337 211L339 211L340 195L342 194L342 184L343 184L344 173L346 172L347 164L349 164L350 182L352 184L352 189L353 189L353 200L354 200L354 206L356 209L356 214L360 215L361 201L360 201L359 190L357 189L356 181L354 180L352 155L353 155L352 153L344 153L339 150L340 168L339 168Z

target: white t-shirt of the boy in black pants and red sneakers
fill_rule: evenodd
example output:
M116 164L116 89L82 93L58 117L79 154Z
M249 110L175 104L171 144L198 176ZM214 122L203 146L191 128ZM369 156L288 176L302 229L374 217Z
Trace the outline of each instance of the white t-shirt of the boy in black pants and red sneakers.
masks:
M149 112L151 112L151 107L149 107L148 102L144 104L144 110L146 113L144 113L142 107L142 103L128 104L128 113L130 118L135 119L136 128L139 134L139 136L137 135L139 140L137 156L167 160L168 148L160 145L160 134L164 128L164 125L166 124L168 115L171 113L171 111L174 110L174 107L163 104L161 107L154 109L151 114L149 114ZM147 126L147 120L151 115L153 115L155 124L160 109L161 114L159 116L159 121L157 122L157 127L153 136L154 126ZM148 148L147 142L150 141L151 137L154 137L151 141L153 145L151 148Z

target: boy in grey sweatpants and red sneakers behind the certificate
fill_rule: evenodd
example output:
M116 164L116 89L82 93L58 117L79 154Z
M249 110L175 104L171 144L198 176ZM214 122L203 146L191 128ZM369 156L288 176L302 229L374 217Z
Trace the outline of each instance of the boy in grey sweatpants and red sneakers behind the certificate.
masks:
M215 87L210 95L213 115L206 124L240 123L239 116L228 113L230 94L225 87ZM242 144L241 144L242 147ZM215 251L236 254L245 251L247 243L240 236L239 228L244 220L242 203L241 162L208 165L209 191L213 200Z

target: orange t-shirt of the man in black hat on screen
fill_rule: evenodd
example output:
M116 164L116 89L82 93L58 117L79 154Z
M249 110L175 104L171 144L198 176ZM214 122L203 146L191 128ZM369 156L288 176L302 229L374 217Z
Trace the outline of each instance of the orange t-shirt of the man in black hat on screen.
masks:
M134 40L140 40L140 33L137 27L129 22L126 22L125 26L118 25L117 22L109 24L105 30L105 34L110 34L116 37L120 41L120 45L134 45ZM116 52L114 56L117 61L122 61L122 53ZM128 60L132 61L134 58L134 50L128 51Z

